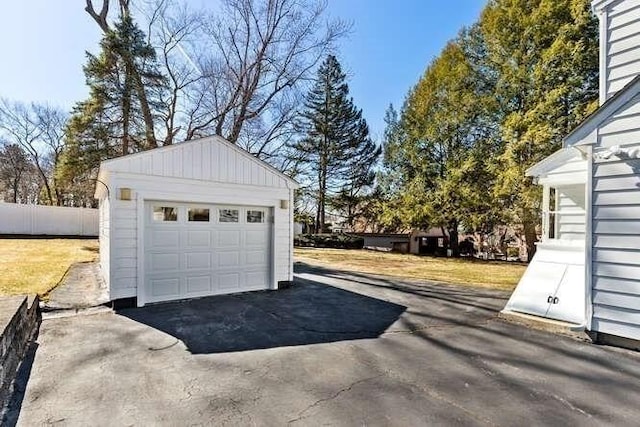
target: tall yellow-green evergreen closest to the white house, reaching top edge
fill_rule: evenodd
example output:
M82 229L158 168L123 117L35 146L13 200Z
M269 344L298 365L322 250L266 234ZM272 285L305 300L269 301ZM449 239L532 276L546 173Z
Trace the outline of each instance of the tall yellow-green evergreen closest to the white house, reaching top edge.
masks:
M494 0L481 28L502 114L494 197L522 224L531 258L541 191L525 171L597 106L597 20L588 0Z

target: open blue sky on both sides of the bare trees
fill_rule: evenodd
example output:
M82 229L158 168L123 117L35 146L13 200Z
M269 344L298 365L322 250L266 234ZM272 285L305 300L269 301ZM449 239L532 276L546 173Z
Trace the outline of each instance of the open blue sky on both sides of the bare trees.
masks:
M135 0L134 0L135 1ZM100 1L96 2L97 4ZM204 3L192 0L192 4ZM329 14L353 24L338 57L351 95L376 139L384 112L446 42L473 23L486 0L329 0ZM0 6L0 96L71 108L87 96L82 65L100 32L83 0L4 1Z

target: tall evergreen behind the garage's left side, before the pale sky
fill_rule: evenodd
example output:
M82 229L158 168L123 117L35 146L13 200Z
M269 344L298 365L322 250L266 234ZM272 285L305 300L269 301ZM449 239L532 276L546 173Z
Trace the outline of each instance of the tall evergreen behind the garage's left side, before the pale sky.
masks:
M92 203L93 179L102 160L157 146L143 107L164 83L153 47L128 13L106 30L98 55L87 53L84 73L89 98L73 109L56 171L76 204Z

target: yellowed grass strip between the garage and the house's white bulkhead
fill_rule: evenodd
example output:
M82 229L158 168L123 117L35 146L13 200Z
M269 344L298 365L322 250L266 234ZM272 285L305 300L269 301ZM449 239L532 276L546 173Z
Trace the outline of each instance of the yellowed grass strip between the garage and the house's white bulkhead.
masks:
M526 266L367 250L295 248L297 260L340 270L513 290Z

